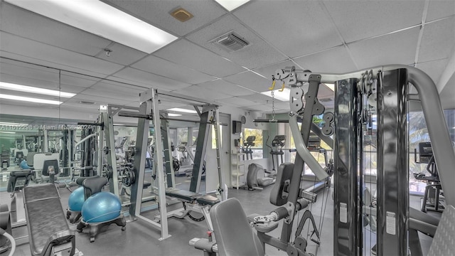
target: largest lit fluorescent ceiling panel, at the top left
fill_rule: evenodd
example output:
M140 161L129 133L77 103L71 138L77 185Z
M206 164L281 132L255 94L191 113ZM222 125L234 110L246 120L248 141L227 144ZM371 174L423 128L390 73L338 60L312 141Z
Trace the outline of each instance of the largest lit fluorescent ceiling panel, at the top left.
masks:
M97 0L6 0L125 46L153 53L177 37Z

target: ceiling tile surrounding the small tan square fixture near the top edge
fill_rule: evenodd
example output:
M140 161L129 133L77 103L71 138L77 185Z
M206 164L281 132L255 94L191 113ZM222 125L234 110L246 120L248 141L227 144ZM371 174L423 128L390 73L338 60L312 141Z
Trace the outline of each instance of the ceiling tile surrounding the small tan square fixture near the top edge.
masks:
M227 13L213 0L105 0L105 2L178 36L184 36ZM177 7L189 11L193 18L185 22L177 21L169 14Z

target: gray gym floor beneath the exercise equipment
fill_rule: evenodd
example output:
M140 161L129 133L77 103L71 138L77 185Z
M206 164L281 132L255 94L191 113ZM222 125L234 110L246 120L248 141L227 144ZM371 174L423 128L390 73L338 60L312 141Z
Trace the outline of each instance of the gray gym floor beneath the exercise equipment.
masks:
M178 177L177 183L181 183L181 188L189 186L188 178ZM269 210L274 209L269 203L269 193L272 186L264 188L264 191L246 191L246 190L229 190L229 198L235 197L240 200L242 207L247 215L251 213L259 213L266 215ZM68 196L70 191L65 188L60 188L60 196L63 208L68 206ZM1 203L9 200L9 194L1 192ZM326 203L327 202L327 203ZM412 196L410 199L412 206L417 207L419 204L419 197ZM331 189L326 188L321 191L318 196L318 201L309 206L318 227L322 225L321 232L321 246L316 248L314 242L309 242L307 251L315 255L333 255L333 201L331 199ZM323 215L325 209L325 216L323 223L321 223L320 216ZM302 212L303 213L303 212ZM145 213L144 215L154 215L156 213ZM45 218L43 216L43 218ZM51 217L50 217L51 218ZM235 220L233 220L235 221ZM70 226L75 230L75 225ZM97 235L95 242L90 243L87 231L83 233L76 233L76 247L84 255L203 255L203 252L196 250L188 245L188 241L192 238L204 238L205 231L207 230L205 221L196 223L186 217L185 219L169 218L168 219L169 233L172 235L163 241L159 241L159 231L151 228L148 224L137 220L127 223L127 229L122 231L117 225L109 225L103 229L103 232ZM311 230L311 229L310 229ZM20 231L20 230L18 230ZM14 235L18 235L14 231ZM303 233L307 233L309 229L304 228ZM281 232L281 225L277 230L272 232L274 237L279 237ZM304 235L305 237L305 235ZM423 238L422 245L424 245L424 254L426 255L428 247L431 243L431 238ZM425 248L427 247L427 248ZM267 245L267 255L287 255L286 252L279 251L274 247ZM28 244L20 245L16 249L18 256L31 255L30 247Z

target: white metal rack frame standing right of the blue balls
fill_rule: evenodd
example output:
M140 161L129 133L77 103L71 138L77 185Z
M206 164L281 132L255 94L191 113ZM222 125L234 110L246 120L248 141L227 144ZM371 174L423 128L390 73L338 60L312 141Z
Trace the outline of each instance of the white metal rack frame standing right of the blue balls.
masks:
M188 97L186 95L178 95L174 94L171 92L158 92L158 90L151 88L150 90L147 90L146 92L143 92L139 95L140 97L140 102L141 105L139 107L139 114L136 114L138 117L138 126L137 126L137 140L136 140L136 156L134 158L134 175L136 176L136 182L132 183L132 193L131 193L131 206L129 207L129 214L132 216L132 218L137 218L140 220L144 220L146 223L151 224L154 226L154 228L158 228L161 231L161 238L159 240L164 240L166 238L171 237L171 235L168 233L168 214L167 214L167 209L166 209L166 188L165 188L165 181L164 181L164 162L163 158L159 157L164 150L166 149L166 145L164 145L163 140L161 139L161 129L158 129L157 127L161 127L161 119L163 121L166 121L165 119L169 118L163 118L160 115L159 112L159 101L160 100L169 100L173 102L185 102L188 105L193 105L195 110L198 112L200 115L200 129L199 132L204 132L205 133L205 138L208 137L208 132L210 131L208 129L209 124L211 122L209 121L209 110L214 110L214 117L213 117L213 122L214 122L214 127L215 127L215 140L216 140L216 146L217 146L217 161L218 161L218 177L220 180L220 184L224 184L223 180L223 172L221 170L221 161L222 159L220 158L220 122L219 122L219 112L218 112L218 105L216 105L214 102L210 102L207 100L200 100L197 98L193 97ZM198 107L202 107L202 112L199 110ZM119 114L120 115L120 114ZM157 223L154 220L150 220L149 218L144 217L141 215L141 198L142 198L142 187L143 183L142 182L137 182L137 181L144 181L144 172L145 172L145 152L146 152L146 146L147 146L147 139L149 137L149 121L153 122L153 126L155 127L155 164L154 166L156 167L155 173L156 173L156 178L158 179L158 198L156 198L159 202L159 223ZM200 178L202 175L202 169L203 169L203 156L205 156L205 148L207 144L207 140L198 136L198 144L196 147L196 162L194 163L193 166L193 176L191 177L191 186L190 186L190 191L193 193L197 193L199 191L199 185L200 185ZM201 140L201 142L199 142ZM200 145L202 144L202 145ZM200 148L202 146L202 148ZM170 149L170 143L168 143L167 149ZM170 154L171 152L168 153ZM171 163L172 157L169 158ZM200 161L198 161L198 159ZM172 165L170 164L170 169L172 168ZM168 178L167 186L175 188L175 185L169 186L170 182L172 184L175 184L174 182L171 181L171 179L174 178L173 171L171 173L168 173L166 170L166 176ZM224 201L225 198L225 193L223 193L223 185L220 186L221 188L220 193L222 195L222 200Z

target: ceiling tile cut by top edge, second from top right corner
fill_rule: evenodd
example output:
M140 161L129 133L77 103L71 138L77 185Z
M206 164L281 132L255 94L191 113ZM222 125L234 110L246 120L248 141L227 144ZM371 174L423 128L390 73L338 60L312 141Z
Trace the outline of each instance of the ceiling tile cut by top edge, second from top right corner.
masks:
M422 22L425 1L323 1L341 36L350 43Z

